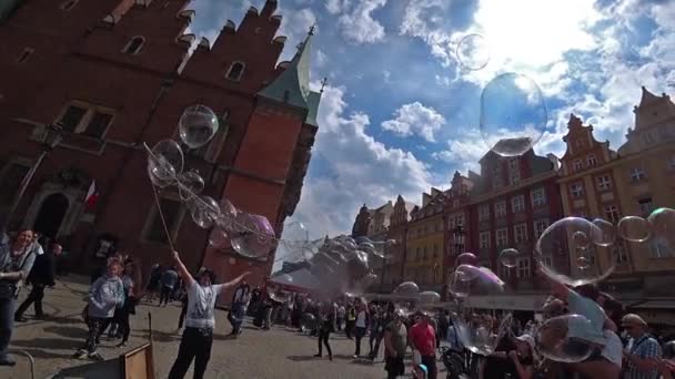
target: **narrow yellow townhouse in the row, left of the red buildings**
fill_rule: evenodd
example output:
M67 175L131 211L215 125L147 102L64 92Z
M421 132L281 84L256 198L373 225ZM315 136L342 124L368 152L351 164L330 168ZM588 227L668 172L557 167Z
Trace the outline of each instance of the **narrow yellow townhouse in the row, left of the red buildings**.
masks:
M406 234L406 255L403 276L415 281L422 289L443 286L443 203L442 192L432 188L423 194L422 207L410 214Z

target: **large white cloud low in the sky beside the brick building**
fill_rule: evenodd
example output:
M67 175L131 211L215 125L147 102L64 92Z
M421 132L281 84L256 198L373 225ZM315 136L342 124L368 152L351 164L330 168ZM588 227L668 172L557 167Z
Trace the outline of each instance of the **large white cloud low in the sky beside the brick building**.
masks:
M293 216L312 237L347 233L363 203L379 206L399 194L416 201L432 182L412 153L387 148L366 133L366 114L346 114L346 95L343 88L326 86L321 100L315 155ZM328 174L320 172L319 160L329 165Z

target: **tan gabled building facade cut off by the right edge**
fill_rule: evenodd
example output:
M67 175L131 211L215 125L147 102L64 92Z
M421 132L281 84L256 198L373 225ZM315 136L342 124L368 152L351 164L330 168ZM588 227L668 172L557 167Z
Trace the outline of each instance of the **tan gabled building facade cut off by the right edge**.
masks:
M675 207L675 103L666 94L656 96L643 88L634 112L635 127L628 130L626 143L618 148L613 173L623 215L646 218L656 208ZM654 235L627 245L633 269L645 277L647 289L663 287L675 272L675 246ZM675 293L673 287L666 289Z

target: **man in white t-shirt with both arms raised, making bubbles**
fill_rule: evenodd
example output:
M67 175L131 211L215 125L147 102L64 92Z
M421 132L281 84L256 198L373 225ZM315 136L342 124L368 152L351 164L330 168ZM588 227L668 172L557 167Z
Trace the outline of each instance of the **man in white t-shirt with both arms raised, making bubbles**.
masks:
M225 284L213 284L214 274L203 270L197 280L192 278L178 252L173 252L173 262L178 273L185 284L188 294L188 315L185 330L175 361L169 371L169 379L182 379L194 360L194 379L202 379L211 358L213 345L213 328L215 327L215 299L228 288L236 286L251 273L246 272Z

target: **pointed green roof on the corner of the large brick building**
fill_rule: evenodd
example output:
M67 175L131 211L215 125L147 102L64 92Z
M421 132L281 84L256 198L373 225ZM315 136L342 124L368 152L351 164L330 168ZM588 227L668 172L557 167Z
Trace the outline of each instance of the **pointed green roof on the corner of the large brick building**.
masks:
M310 91L310 57L312 54L311 43L313 34L314 27L310 29L304 42L300 44L289 66L270 85L258 93L260 96L308 111L315 107L312 105L318 105L319 99L316 99L316 95L312 95L312 99L310 99L310 94L312 93ZM313 119L315 119L315 114Z

